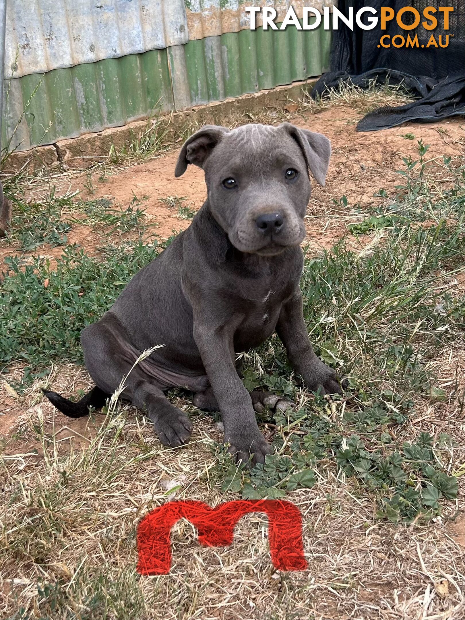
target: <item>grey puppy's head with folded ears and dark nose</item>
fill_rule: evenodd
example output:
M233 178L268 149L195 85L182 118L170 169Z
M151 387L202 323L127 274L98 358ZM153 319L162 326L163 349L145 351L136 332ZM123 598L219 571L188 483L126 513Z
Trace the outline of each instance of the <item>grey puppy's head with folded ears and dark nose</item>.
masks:
M309 170L324 185L329 139L290 123L205 126L185 142L175 176L205 171L213 217L241 252L273 256L305 237Z

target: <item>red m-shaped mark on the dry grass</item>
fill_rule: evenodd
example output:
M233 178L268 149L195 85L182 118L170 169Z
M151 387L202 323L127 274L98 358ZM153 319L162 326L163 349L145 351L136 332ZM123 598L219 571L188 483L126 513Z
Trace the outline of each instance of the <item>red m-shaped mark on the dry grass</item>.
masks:
M171 528L185 518L197 528L198 541L208 547L228 547L234 526L249 512L268 515L268 540L278 570L305 570L302 519L299 509L285 500L237 500L210 508L204 502L167 502L144 516L137 529L141 575L166 575L171 566Z

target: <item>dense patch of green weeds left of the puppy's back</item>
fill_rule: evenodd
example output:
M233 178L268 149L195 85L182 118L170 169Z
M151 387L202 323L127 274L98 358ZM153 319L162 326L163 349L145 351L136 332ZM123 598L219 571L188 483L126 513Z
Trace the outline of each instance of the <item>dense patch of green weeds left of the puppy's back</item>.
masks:
M22 360L27 370L41 370L54 360L82 362L82 329L112 306L128 280L158 252L156 242L137 241L107 248L103 260L68 246L56 267L43 258L26 266L19 258L7 259L0 294L0 365Z

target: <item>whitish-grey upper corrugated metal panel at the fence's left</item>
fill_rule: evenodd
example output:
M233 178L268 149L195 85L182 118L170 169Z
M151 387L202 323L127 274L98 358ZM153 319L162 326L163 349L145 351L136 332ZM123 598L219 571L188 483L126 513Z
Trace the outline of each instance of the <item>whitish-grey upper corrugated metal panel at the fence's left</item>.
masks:
M6 76L188 41L184 0L8 0Z

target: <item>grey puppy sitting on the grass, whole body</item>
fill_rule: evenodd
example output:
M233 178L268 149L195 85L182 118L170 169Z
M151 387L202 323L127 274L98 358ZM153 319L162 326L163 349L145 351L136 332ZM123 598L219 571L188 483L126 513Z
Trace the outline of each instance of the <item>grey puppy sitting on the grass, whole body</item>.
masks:
M267 392L246 390L237 352L257 347L276 330L309 390L342 391L334 370L313 352L299 290L308 170L324 185L330 153L329 139L290 123L205 126L191 136L175 176L188 164L201 167L205 204L82 332L96 387L79 402L45 391L50 401L70 417L87 415L89 406L105 404L143 350L164 345L134 368L123 398L146 410L164 445L180 446L192 423L164 392L196 392L196 407L221 412L224 441L236 458L252 455L252 463L263 463L270 446L254 408L283 404Z

